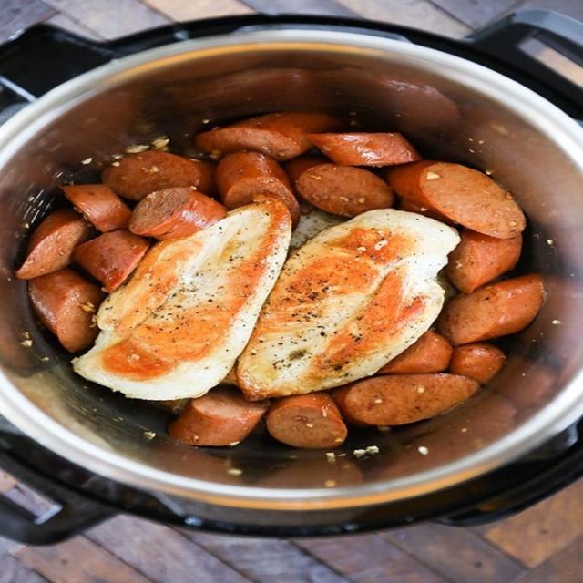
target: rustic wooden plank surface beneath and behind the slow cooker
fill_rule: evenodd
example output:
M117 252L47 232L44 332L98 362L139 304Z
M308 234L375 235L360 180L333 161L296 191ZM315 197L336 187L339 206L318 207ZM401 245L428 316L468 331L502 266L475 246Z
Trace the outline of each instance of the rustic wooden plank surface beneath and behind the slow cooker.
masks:
M583 19L582 0L0 0L0 42L46 21L97 39L218 15L362 15L464 36L518 7ZM0 471L0 492L46 501ZM52 547L0 537L0 583L580 583L583 480L486 527L437 525L318 540L221 537L119 516Z

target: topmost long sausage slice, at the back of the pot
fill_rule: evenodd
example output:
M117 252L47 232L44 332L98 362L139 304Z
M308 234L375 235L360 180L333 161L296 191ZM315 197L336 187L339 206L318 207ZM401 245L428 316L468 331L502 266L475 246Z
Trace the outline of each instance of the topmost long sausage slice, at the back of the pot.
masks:
M307 134L334 131L342 126L338 118L323 113L271 113L205 131L195 138L194 144L205 152L220 154L251 149L281 161L312 148Z

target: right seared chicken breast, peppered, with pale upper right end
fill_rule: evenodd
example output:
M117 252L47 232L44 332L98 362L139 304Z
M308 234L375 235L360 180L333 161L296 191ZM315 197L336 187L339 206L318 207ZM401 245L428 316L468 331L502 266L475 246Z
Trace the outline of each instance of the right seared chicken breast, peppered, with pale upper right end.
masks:
M459 242L443 223L371 210L295 251L241 354L251 400L312 393L376 373L439 314L436 276Z

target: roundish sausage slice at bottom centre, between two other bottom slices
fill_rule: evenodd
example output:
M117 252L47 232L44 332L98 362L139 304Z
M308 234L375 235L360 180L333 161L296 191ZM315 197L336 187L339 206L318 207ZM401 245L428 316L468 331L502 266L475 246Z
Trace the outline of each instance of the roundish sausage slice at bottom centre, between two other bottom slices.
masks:
M302 449L338 447L348 434L338 407L327 393L278 399L265 421L271 437Z

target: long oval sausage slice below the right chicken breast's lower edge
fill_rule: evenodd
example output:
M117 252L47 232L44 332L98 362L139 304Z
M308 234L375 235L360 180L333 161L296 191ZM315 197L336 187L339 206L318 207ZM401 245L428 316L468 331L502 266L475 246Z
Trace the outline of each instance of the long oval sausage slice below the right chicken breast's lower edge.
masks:
M480 388L457 374L390 374L333 392L343 415L368 425L402 425L429 419L463 403Z

